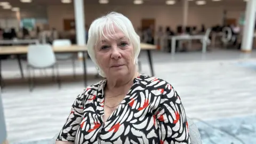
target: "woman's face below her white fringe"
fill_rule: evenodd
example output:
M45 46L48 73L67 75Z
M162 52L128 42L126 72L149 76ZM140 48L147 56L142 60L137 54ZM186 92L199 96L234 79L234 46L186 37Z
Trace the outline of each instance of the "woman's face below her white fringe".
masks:
M94 47L95 58L106 77L125 77L135 70L133 46L121 30L114 31Z

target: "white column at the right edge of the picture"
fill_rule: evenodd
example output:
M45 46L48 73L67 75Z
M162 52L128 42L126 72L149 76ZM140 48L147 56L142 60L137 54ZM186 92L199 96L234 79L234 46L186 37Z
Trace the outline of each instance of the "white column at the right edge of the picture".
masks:
M255 26L256 0L249 0L245 10L245 25L243 29L243 39L241 50L251 52L253 44L253 34Z

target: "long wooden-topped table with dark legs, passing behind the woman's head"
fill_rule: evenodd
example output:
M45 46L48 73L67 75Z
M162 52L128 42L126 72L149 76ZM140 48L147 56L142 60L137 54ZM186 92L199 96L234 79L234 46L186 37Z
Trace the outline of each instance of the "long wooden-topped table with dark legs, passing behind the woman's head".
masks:
M147 51L148 61L149 61L150 70L151 70L151 75L154 76L153 62L152 62L152 58L151 58L151 50L155 50L156 45L141 43L140 46L141 46L141 50L146 50ZM78 52L83 53L84 85L86 86L87 85L86 62L85 62L85 57L86 57L85 52L87 52L86 45L84 45L84 46L78 46L78 45L54 46L53 51L55 53L78 53ZM21 73L22 78L24 78L24 75L23 75L23 68L22 68L22 65L21 65L20 55L21 54L27 54L27 52L28 52L28 46L0 46L0 56L4 55L4 54L17 55L19 69L20 69L20 73ZM2 68L1 68L1 59L0 59L0 85L2 85L1 71L2 71Z

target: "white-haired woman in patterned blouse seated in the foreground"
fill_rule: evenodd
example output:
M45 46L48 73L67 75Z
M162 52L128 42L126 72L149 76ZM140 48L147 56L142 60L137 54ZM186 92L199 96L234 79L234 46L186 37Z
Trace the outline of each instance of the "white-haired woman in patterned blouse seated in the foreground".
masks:
M57 144L190 143L177 92L136 69L140 37L129 19L111 12L94 20L87 48L106 79L78 95Z

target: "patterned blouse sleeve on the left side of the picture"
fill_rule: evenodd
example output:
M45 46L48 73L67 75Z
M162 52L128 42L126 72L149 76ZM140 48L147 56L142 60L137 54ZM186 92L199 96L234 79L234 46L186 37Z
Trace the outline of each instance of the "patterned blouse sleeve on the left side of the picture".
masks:
M57 141L75 142L76 131L82 121L84 93L79 94L74 101L66 123L62 127Z

